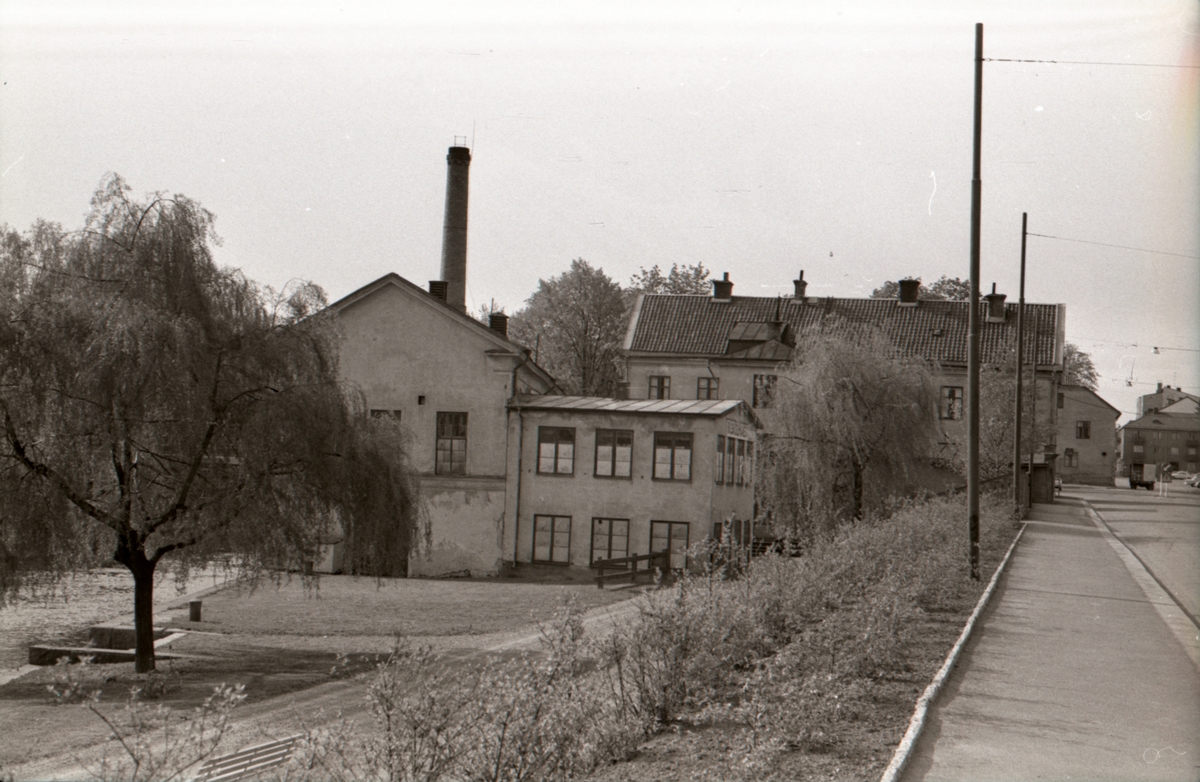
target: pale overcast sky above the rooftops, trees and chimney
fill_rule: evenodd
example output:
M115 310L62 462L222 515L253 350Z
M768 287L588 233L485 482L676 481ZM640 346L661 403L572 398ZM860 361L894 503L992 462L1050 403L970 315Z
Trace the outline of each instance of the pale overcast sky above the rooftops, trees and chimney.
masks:
M581 257L743 295L966 278L977 22L988 58L1058 61L984 67L983 287L1015 301L1027 211L1060 239L1026 299L1067 305L1100 395L1200 391L1196 0L0 0L0 221L78 227L118 172L215 212L259 282L424 287L457 136L472 311Z

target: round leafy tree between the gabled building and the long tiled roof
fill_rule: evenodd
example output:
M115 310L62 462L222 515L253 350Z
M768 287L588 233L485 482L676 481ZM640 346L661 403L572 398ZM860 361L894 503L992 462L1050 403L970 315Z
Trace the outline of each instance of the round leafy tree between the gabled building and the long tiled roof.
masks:
M602 269L582 258L538 282L509 319L509 337L535 350L565 393L612 396L622 374L625 295Z

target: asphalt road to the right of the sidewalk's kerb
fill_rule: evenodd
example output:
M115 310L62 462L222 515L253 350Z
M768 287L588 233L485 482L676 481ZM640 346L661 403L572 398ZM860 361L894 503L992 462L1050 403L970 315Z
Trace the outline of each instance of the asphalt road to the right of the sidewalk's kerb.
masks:
M1067 486L1087 500L1193 621L1200 620L1200 488L1170 485L1169 495L1126 487Z

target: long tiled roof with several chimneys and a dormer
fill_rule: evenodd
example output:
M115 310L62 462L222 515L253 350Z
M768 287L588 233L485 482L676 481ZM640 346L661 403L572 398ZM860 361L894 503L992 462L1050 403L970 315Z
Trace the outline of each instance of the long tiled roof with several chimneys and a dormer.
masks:
M878 327L907 355L940 363L967 362L965 301L923 299L916 307L901 307L895 299L792 299L647 294L640 302L629 338L631 353L718 357L738 324L784 321L792 329L797 349L823 330L862 331ZM986 321L986 303L979 303L979 344L984 363L1001 361L1016 344L1015 303L1006 305L1004 323ZM1062 329L1058 305L1025 305L1026 361L1037 349L1037 363L1056 363L1055 344ZM744 330L744 325L739 325ZM749 356L748 356L749 357ZM768 356L763 356L768 357Z

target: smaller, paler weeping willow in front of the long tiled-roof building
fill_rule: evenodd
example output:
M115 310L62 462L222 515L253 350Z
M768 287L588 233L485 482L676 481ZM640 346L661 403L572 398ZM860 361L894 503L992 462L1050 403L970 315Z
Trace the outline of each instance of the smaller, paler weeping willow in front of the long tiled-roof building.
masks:
M862 518L928 463L937 440L929 367L875 333L818 336L779 375L760 494L802 539ZM784 531L784 530L780 530Z

